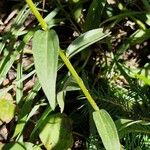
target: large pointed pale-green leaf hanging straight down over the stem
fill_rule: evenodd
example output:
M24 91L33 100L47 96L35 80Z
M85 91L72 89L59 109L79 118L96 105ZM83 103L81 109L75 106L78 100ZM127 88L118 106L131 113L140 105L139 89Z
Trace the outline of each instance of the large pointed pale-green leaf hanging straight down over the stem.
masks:
M54 30L35 32L33 56L35 69L43 91L52 109L56 106L56 77L59 41Z

